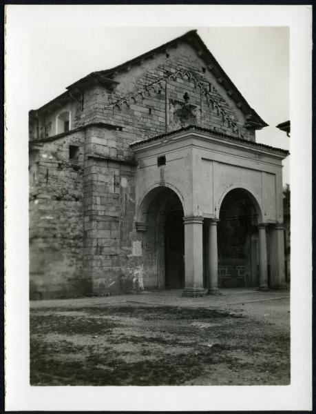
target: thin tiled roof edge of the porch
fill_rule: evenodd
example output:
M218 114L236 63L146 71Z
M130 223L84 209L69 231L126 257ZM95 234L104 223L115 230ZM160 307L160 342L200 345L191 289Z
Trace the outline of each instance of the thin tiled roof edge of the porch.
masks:
M189 130L209 132L211 135L215 135L217 137L221 137L221 138L227 139L229 141L235 141L235 142L239 142L240 144L249 145L249 146L252 146L252 147L255 147L255 148L262 148L262 149L270 150L270 151L273 151L273 152L279 152L280 154L285 155L285 156L287 156L289 154L288 150L283 150L282 148L275 148L275 147L272 147L272 146L268 146L266 144L259 144L259 143L254 142L254 141L246 141L245 139L242 139L242 138L233 137L232 135L227 135L227 134L224 134L223 132L210 130L208 128L202 128L202 127L196 126L196 125L185 126L184 128L180 128L178 130L174 130L174 131L171 131L171 132L166 132L165 134L161 134L161 135L156 135L156 137L151 137L151 138L147 138L147 139L142 139L140 141L135 141L135 142L129 144L129 146L131 146L131 148L134 148L136 146L146 144L147 142L156 141L160 138L169 137L171 135L178 134L179 132L184 132L184 131L189 131Z

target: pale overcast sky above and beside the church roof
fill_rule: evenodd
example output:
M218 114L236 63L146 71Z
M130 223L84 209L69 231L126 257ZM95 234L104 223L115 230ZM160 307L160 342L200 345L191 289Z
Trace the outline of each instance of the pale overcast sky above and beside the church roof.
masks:
M269 125L257 131L257 142L288 149L286 133L275 128L289 119L289 30L285 27L32 29L30 109L39 108L89 72L112 68L193 28ZM284 184L288 183L288 159L283 175Z

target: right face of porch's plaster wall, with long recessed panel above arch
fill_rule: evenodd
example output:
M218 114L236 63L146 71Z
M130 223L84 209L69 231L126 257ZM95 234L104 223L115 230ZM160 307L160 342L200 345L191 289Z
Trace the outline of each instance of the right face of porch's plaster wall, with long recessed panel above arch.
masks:
M257 201L264 222L282 222L282 168L267 155L217 143L193 150L193 214L218 218L224 195L244 188ZM201 214L202 212L202 214Z

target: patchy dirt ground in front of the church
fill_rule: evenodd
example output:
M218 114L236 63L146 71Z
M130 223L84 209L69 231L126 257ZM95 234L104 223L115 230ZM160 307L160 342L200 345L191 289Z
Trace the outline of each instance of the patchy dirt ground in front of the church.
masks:
M233 308L60 303L31 307L31 385L290 383L288 299Z

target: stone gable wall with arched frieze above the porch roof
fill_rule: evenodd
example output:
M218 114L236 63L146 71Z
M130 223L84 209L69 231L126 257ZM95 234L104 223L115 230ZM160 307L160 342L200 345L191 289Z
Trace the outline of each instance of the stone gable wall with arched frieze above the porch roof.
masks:
M122 126L129 135L129 142L153 137L180 128L179 124L173 123L171 101L185 103L183 95L188 92L189 103L196 106L198 125L244 139L255 139L253 131L243 128L245 118L242 111L191 46L183 43L178 48L167 50L167 53L169 57L160 52L141 65L135 64L119 72L114 77L119 82L114 92L103 86L94 88L90 95L85 92L84 109L78 125L98 120ZM196 82L200 83L202 91Z

